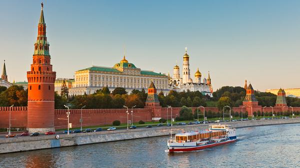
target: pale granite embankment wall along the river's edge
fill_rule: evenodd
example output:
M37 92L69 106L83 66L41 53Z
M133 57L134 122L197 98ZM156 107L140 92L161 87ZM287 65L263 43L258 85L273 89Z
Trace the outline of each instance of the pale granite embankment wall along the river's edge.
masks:
M300 119L280 119L280 120L256 120L227 123L235 128L255 127L276 124L294 124L300 123ZM136 130L116 130L112 132L103 131L96 133L80 133L70 135L59 135L59 139L55 139L55 135L40 137L22 137L11 139L0 139L0 153L20 152L39 150L47 148L58 148L67 146L76 146L93 143L103 143L112 141L122 141L130 139L139 139L147 137L166 136L173 133L207 129L208 124L185 125L170 127L157 127L152 129L136 129ZM238 131L238 130L237 130Z

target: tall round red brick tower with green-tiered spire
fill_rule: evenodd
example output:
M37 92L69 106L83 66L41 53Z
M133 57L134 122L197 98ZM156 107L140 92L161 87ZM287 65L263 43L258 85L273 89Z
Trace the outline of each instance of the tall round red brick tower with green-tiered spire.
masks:
M54 131L54 82L56 72L50 64L49 43L43 4L38 22L37 38L34 44L33 61L28 80L27 128L29 132Z

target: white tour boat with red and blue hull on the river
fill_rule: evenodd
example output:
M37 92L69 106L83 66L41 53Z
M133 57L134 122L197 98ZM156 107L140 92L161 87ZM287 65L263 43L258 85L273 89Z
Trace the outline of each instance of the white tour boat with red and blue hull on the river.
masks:
M198 151L236 141L235 128L230 125L209 125L208 130L175 134L167 141L168 152Z

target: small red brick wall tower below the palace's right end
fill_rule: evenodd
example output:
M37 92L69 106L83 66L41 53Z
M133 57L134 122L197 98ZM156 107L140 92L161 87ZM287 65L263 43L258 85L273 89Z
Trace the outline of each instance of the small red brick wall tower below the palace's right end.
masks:
M158 100L156 88L154 86L154 83L151 81L151 84L148 88L148 95L147 95L144 108L155 109L160 107L161 106L159 106L159 100Z

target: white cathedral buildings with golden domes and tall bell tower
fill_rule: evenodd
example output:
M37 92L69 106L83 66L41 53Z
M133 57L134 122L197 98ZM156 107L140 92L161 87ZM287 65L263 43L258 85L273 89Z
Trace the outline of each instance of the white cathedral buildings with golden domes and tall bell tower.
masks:
M203 95L208 95L212 97L212 86L211 79L208 71L207 79L204 78L201 81L202 74L199 72L199 68L197 68L196 73L194 74L194 82L190 77L190 69L189 69L189 55L187 54L187 48L185 48L185 54L183 55L183 64L182 64L182 77L180 77L180 69L178 65L175 65L173 68L173 77L168 74L169 86L172 90L176 90L177 92L183 91L199 91Z

